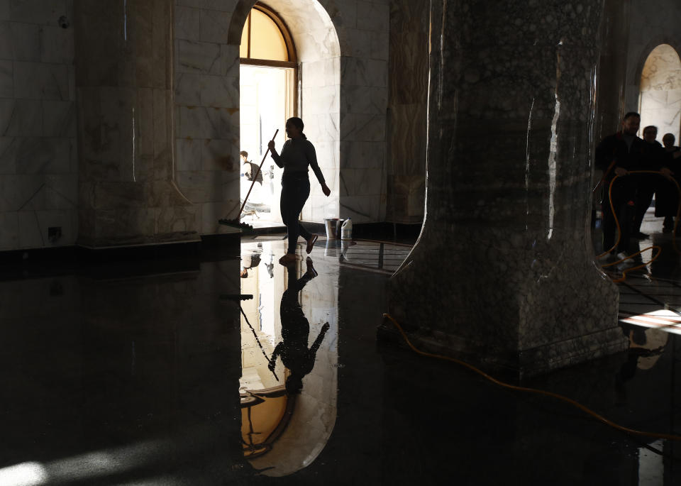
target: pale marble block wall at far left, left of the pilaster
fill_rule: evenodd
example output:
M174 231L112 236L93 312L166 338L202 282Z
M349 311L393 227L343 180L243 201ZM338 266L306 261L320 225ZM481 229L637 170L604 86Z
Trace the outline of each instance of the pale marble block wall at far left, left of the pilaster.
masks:
M70 0L0 0L0 250L76 240L72 16Z

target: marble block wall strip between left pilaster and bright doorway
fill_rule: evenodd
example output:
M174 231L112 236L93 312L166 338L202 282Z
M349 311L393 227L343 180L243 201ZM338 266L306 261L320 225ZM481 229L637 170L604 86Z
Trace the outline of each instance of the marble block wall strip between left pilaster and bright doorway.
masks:
M236 1L175 0L175 180L199 207L199 233L239 209L239 46L228 45Z

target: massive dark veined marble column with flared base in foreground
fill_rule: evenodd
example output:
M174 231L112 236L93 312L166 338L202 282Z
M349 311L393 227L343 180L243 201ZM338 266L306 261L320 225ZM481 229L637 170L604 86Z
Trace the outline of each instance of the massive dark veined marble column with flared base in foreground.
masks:
M389 310L521 375L624 348L589 241L602 1L431 1L426 219Z

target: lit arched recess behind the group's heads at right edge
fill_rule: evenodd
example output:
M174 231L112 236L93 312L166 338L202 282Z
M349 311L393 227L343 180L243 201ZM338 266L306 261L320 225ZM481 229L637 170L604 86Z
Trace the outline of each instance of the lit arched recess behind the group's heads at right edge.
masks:
M679 140L681 128L681 59L671 45L650 52L641 72L639 111L641 128L658 127L658 140L672 133Z

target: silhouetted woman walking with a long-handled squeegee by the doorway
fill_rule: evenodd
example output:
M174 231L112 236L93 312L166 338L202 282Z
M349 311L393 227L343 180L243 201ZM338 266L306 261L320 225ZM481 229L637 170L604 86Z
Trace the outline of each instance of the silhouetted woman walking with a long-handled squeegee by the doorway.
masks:
M321 190L326 196L331 194L324 181L324 176L317 165L317 157L312 145L303 133L303 121L293 117L286 121L286 134L289 140L284 142L282 153L275 150L274 140L270 141L269 147L272 152L272 159L284 169L282 175L282 197L279 206L282 210L282 221L289 232L289 249L286 255L279 259L279 263L286 265L296 261L296 244L298 236L302 236L307 241L307 253L312 251L317 236L310 233L298 221L300 211L302 211L305 201L310 195L310 180L308 178L308 165L312 167L316 175Z

